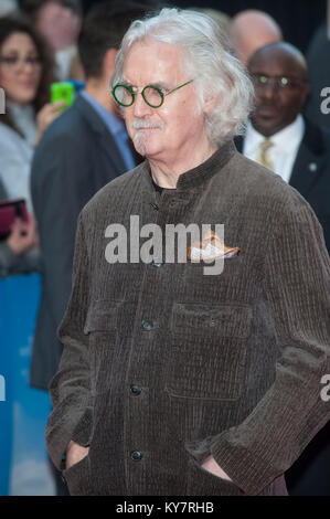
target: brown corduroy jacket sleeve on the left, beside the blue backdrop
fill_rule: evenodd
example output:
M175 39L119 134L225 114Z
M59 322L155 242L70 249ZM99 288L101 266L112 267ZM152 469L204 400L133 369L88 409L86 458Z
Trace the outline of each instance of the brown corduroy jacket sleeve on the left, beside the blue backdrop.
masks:
M89 300L89 261L83 224L78 221L73 266L73 289L66 314L58 329L65 345L58 372L50 384L53 403L46 425L46 445L55 466L70 439L88 445L93 425L88 336L84 325Z

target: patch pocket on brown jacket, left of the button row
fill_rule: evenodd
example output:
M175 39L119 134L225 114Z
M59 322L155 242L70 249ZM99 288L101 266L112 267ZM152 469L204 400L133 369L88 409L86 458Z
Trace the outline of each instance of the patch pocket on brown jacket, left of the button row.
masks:
M89 306L84 332L89 335L92 394L108 391L118 341L120 301L96 300Z

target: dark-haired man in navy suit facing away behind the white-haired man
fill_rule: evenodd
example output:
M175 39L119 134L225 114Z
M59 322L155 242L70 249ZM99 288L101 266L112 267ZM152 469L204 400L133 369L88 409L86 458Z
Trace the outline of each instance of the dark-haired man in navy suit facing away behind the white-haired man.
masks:
M103 186L136 166L109 81L123 35L143 13L145 8L123 2L89 11L78 42L86 89L35 151L31 189L44 264L30 377L36 388L47 389L62 353L56 330L71 292L78 213Z

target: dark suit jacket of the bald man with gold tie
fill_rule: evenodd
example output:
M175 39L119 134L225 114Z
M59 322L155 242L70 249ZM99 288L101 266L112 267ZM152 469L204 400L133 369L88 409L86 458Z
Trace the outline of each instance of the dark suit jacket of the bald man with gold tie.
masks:
M330 251L330 133L307 119L305 125L289 184L312 206ZM242 151L243 138L235 138L235 144Z

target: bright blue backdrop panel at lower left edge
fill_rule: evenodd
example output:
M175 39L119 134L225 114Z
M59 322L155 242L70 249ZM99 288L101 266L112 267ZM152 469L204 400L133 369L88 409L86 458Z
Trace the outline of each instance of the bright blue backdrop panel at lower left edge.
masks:
M44 442L51 402L45 391L29 386L40 287L39 274L0 280L1 496L54 495Z

